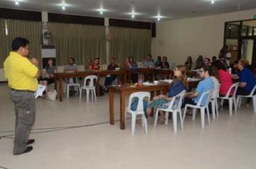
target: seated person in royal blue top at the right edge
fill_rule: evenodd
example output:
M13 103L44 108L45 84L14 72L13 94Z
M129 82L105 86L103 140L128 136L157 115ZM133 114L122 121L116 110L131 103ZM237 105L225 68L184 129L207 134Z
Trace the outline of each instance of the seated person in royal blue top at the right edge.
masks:
M255 79L253 76L253 71L249 70L246 66L248 65L247 59L241 59L238 62L238 72L239 76L239 87L237 88L237 95L248 95L252 92L253 87L255 86ZM247 104L250 102L250 99L247 99Z

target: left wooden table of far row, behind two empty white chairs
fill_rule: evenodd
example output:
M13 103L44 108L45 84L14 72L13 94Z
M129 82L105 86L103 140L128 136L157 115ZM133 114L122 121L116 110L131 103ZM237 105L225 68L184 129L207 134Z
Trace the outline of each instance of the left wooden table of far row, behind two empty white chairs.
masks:
M97 88L97 94L100 93L100 77L101 76L107 76L107 75L117 75L119 77L119 80L123 83L126 83L126 72L125 70L99 70L99 71L76 71L76 72L59 72L55 73L55 90L58 92L58 98L60 102L63 99L63 81L67 78L72 77L85 77L90 75L96 75L98 77L96 88ZM59 86L59 87L58 87Z

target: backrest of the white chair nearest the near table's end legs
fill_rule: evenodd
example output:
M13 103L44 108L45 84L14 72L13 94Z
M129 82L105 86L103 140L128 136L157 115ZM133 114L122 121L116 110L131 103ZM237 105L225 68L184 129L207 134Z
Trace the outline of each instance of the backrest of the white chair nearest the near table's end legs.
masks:
M143 111L143 100L146 100L149 102L150 93L149 92L131 93L131 95L129 97L129 102L128 102L128 110L131 110L131 102L135 98L138 99L137 111Z

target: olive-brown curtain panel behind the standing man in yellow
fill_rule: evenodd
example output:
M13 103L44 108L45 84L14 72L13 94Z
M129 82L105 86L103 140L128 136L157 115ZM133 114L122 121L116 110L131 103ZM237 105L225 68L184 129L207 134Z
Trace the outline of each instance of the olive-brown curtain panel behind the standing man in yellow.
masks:
M5 24L8 28L8 35L5 34ZM25 37L29 42L30 56L41 60L42 23L27 20L4 20L0 19L0 61L3 67L3 60L11 51L11 42L15 37Z

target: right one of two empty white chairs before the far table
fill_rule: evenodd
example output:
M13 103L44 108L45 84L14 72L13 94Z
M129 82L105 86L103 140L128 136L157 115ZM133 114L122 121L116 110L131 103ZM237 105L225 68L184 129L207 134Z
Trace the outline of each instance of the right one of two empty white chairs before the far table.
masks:
M80 93L79 93L79 100L81 100L82 97L82 91L85 90L86 92L86 102L89 102L89 96L91 93L91 99L95 99L96 101L96 81L97 81L97 76L91 75L91 76L86 76L84 78L84 86L80 87Z

